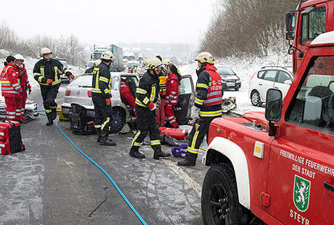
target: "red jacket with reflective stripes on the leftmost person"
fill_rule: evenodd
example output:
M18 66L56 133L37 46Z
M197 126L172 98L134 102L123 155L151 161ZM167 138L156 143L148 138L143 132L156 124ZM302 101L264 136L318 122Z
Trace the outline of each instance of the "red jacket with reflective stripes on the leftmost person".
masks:
M4 97L22 98L20 73L15 66L7 64L1 72L1 95ZM21 92L21 93L20 93Z

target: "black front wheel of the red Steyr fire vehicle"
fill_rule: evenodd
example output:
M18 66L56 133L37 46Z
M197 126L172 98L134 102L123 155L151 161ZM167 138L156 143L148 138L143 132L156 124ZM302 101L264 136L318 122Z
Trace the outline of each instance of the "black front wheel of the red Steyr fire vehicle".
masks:
M208 170L203 182L201 203L204 225L240 224L242 206L230 166L218 164Z

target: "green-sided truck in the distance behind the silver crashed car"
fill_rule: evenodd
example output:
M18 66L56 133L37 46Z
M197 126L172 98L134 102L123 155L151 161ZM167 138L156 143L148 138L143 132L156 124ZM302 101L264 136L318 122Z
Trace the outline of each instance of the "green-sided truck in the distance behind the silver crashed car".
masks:
M110 72L121 72L123 67L123 49L117 45L94 45L94 52L91 55L91 60L97 60L101 58L104 51L109 50L114 55L115 59L110 65Z

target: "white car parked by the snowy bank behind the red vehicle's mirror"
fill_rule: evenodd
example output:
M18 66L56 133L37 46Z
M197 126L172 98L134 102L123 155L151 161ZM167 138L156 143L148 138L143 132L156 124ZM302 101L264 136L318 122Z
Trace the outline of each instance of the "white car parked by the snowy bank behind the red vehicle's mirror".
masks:
M253 106L261 106L266 102L267 90L275 88L281 90L283 98L288 92L293 75L288 68L282 66L263 66L256 71L249 81L248 96Z

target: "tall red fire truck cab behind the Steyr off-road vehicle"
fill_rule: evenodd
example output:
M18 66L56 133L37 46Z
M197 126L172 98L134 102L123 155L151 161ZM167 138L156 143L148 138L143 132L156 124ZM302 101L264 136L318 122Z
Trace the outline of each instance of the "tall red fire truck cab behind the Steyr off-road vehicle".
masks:
M302 61L307 44L319 34L334 31L333 0L301 0L297 9L286 13L286 39L293 55L293 73Z

